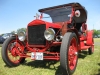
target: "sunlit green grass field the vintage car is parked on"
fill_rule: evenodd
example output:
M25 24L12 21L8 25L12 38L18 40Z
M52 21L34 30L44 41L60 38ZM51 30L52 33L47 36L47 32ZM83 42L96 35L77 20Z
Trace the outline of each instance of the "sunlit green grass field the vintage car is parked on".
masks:
M73 75L100 75L100 39L94 41L94 54L88 55L86 51L79 54L77 68ZM59 61L32 61L28 58L24 64L9 68L3 62L0 53L0 75L62 75L59 64Z

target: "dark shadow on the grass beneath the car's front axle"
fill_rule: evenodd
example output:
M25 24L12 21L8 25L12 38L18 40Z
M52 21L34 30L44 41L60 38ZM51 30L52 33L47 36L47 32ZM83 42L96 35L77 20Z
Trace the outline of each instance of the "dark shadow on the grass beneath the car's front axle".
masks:
M31 66L32 68L45 68L50 70L55 70L55 75L63 75L60 64L55 66L55 64L59 61L52 61L52 60L44 60L44 61L31 61L26 62L22 65ZM52 66L52 67L51 67Z

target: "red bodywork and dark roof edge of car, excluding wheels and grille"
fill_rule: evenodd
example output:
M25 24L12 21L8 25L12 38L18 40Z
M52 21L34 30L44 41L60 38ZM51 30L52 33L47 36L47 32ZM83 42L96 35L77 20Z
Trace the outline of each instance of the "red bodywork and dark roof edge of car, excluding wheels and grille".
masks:
M41 13L43 13L43 11L45 11L45 10L52 10L52 9L60 8L60 7L63 7L63 6L71 6L72 7L71 17L68 21L50 23L50 22L43 21L41 19L43 17L43 15L42 15L42 16L40 16L40 19L33 20L32 22L30 22L28 24L28 26L45 24L46 29L48 29L48 28L59 29L59 31L63 33L62 35L64 35L66 32L73 32L77 35L77 39L78 39L78 48L77 49L78 49L78 51L86 50L86 49L90 48L91 45L94 45L93 39L92 39L93 38L93 36L92 36L93 31L87 30L87 25L86 25L87 15L86 15L86 12L84 11L84 8L80 4L65 4L65 5L40 9L39 11ZM82 9L83 11L81 13L83 14L83 16L84 15L86 16L85 21L81 23L82 24L82 34L81 35L78 33L78 30L75 27L67 28L67 26L72 23L72 18L73 18L73 16L75 16L74 13L75 13L76 9ZM76 21L78 21L78 20L76 20ZM78 25L78 23L76 25ZM27 26L27 28L28 28L28 26ZM27 30L26 36L28 36L28 30ZM16 40L18 40L17 37L16 37ZM26 41L24 42L24 45L20 46L21 51L17 52L20 57L31 57L30 55L28 55L28 53L31 53L31 52L43 52L44 54L46 54L43 57L43 59L48 59L48 60L59 60L60 59L60 55L59 55L60 53L59 52L51 52L49 49L51 47L60 46L61 41L59 41L59 42L57 42L57 41L46 41L46 45L29 45L27 41L28 41L28 37L27 37ZM27 53L25 53L25 52L27 52ZM33 60L35 60L35 59L33 59Z

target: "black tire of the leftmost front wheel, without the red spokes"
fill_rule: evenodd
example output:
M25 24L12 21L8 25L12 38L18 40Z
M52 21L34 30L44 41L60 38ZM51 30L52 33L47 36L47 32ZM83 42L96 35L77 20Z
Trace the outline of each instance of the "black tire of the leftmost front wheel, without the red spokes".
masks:
M17 60L18 62L15 63L15 62L12 62L11 61L12 59L9 58L8 51L9 51L9 53L11 53L10 52L11 50L9 47L10 43L11 43L11 41L15 41L15 40L16 40L16 37L10 37L10 38L6 39L2 45L2 50L1 50L2 59L5 62L5 64L9 67L18 66L20 63L23 63L25 61L25 58L19 57L19 60ZM17 42L19 43L19 41L17 41ZM16 56L14 56L14 57L16 57Z

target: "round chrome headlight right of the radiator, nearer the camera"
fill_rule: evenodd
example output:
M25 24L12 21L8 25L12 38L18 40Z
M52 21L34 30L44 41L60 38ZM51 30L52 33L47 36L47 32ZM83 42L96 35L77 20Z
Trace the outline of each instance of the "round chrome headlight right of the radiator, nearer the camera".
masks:
M45 30L44 37L46 40L51 41L54 39L54 36L55 36L55 31L52 28L48 28L47 30Z

